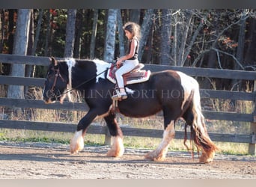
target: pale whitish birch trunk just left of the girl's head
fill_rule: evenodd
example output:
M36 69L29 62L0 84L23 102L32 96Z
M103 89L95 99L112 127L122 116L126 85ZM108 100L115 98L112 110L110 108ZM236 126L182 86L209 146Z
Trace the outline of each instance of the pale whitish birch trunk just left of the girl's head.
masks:
M104 61L114 61L117 13L118 9L109 9L108 12L108 22L106 25L106 41L104 47Z

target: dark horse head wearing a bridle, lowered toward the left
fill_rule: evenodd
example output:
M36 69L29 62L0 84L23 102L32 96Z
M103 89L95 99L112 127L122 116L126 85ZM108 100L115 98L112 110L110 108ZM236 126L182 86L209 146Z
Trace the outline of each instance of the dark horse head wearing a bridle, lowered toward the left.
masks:
M64 91L68 84L68 67L64 61L50 58L46 82L43 90L43 100L46 103L64 100Z

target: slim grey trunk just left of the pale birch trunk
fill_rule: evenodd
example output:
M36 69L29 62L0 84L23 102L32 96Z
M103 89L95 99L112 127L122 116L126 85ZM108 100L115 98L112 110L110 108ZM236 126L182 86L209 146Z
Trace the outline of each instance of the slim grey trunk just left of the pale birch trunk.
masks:
M90 44L90 58L95 58L95 46L96 46L96 36L97 36L97 26L98 26L99 10L94 9L94 23L91 34L91 44Z

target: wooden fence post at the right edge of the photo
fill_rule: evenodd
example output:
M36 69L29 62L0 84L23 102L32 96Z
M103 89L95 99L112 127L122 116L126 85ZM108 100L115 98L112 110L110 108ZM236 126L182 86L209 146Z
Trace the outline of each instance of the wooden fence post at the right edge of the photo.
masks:
M254 84L254 88L253 88L254 93L256 94L256 80L255 80L255 84ZM254 109L253 109L253 122L251 123L251 134L252 134L252 144L249 144L249 150L248 153L250 155L256 155L256 140L255 140L255 136L256 136L256 95L255 95L255 101L253 103L254 105Z

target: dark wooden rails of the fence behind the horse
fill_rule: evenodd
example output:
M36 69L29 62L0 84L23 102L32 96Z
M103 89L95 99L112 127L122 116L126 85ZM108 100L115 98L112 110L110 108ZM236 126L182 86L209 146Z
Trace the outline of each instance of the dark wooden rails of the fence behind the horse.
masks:
M7 64L29 64L37 66L48 66L49 58L47 57L34 57L34 56L22 56L22 55L4 55L0 54L0 63ZM211 78L222 79L243 79L255 81L256 72L254 71L240 71L240 70L216 70L209 68L192 68L192 67L171 67L163 65L150 65L145 64L144 69L151 70L152 72L160 70L179 70L190 76L202 76ZM0 84L2 85L25 85L25 86L37 86L43 87L45 79L43 78L28 78L28 77L15 77L15 76L0 76ZM234 100L248 100L255 103L256 91L252 93L240 92L240 91L216 91L201 89L201 98L219 98L219 99L234 99ZM43 100L35 99L11 99L0 98L0 106L11 108L43 108L43 109L60 109L71 111L88 111L88 106L82 102L64 102L64 104L55 103L52 105L44 104ZM237 112L224 112L224 111L207 111L203 110L204 116L209 120L232 120L240 122L251 123L252 133L249 135L240 134L220 134L209 133L210 138L213 141L225 141L225 142L237 142L249 144L249 153L255 155L255 143L256 143L256 117L255 107L252 113L243 114ZM76 130L76 124L73 123L49 123L39 121L18 121L18 120L0 120L0 128L8 129L33 129L43 131L55 131L55 132L74 132ZM162 138L162 130L160 129L138 129L127 126L121 126L124 135L129 136L142 136L142 137L154 137ZM89 127L88 133L103 134L108 137L109 132L106 126L99 124L93 124ZM184 132L176 132L175 138L183 139Z

